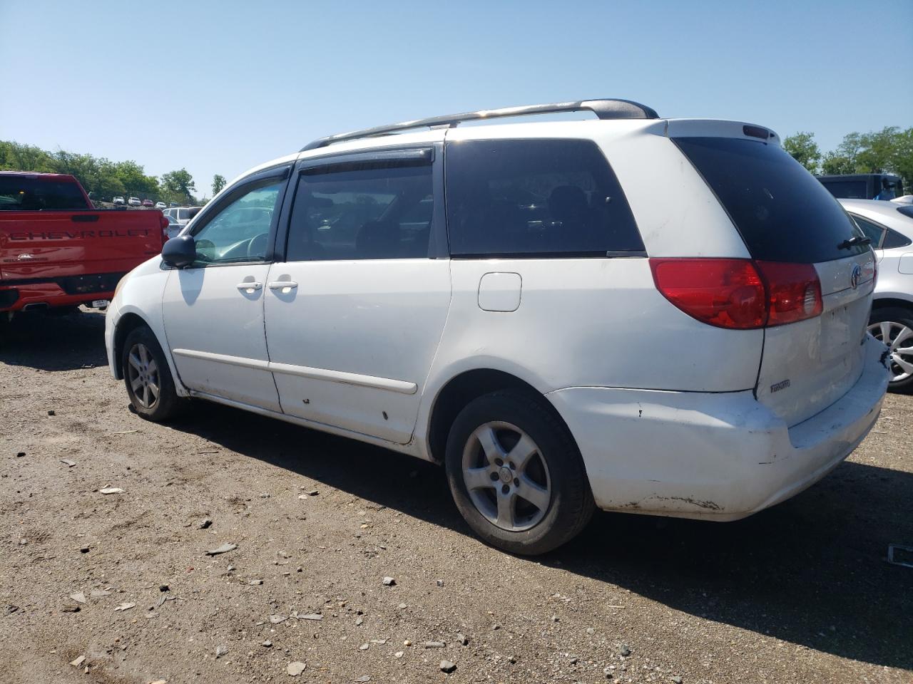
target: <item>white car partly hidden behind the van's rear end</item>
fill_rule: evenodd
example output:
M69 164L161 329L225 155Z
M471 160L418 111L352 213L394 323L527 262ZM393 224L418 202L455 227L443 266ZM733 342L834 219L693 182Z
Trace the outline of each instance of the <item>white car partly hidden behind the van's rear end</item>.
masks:
M913 206L840 200L878 259L868 331L891 349L889 389L913 389Z

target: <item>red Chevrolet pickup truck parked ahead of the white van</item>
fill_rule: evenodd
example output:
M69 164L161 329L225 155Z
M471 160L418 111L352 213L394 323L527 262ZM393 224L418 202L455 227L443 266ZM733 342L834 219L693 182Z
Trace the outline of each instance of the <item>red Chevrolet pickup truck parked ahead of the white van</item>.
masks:
M158 210L95 209L73 176L0 171L0 316L106 306L167 229Z

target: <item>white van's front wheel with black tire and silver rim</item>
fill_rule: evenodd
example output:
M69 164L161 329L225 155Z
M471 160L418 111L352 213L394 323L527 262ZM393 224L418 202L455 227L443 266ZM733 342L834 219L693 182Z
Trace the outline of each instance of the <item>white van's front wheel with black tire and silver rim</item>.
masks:
M147 326L131 330L121 353L123 382L136 414L152 422L170 420L184 409L162 346Z

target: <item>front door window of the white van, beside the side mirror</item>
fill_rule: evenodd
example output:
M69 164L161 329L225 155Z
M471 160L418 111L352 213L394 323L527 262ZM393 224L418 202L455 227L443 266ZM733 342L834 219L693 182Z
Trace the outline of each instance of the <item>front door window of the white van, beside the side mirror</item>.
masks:
M194 265L265 259L269 226L284 182L259 185L244 192L195 231Z

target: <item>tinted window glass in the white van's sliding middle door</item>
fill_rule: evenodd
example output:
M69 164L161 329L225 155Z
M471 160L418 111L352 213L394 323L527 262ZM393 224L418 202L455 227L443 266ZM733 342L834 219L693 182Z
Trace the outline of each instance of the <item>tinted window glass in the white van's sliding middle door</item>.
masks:
M426 258L433 209L430 164L305 171L286 258Z

